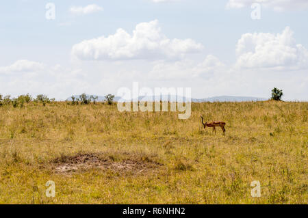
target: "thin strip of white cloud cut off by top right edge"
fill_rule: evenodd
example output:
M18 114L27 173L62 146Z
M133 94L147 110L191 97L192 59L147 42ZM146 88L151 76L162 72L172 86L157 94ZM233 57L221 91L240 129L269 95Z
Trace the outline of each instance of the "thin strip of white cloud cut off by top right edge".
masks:
M265 8L275 11L298 10L308 8L307 0L229 0L227 8L251 7L253 3L260 3Z

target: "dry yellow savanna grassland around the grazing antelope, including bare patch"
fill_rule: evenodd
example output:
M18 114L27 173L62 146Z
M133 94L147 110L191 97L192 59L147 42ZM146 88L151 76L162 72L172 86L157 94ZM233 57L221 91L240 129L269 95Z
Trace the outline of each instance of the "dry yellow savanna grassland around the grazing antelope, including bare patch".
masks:
M1 204L307 204L308 103L0 107ZM203 129L226 122L226 136ZM55 182L47 197L46 182ZM261 197L251 197L259 180Z

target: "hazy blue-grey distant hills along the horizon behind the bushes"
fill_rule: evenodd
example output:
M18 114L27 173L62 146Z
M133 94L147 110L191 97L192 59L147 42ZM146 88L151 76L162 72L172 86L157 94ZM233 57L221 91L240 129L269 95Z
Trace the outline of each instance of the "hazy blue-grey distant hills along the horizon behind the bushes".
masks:
M87 95L90 97L90 95ZM95 96L95 95L93 95ZM80 98L79 95L74 95L75 98ZM105 100L104 96L98 96L97 99L98 102L103 102ZM180 99L182 98L183 101L185 101L185 97L178 96ZM171 96L164 96L165 99L168 99L170 101ZM162 96L160 96L159 99L162 99ZM172 99L177 99L177 96L172 96ZM69 97L66 100L71 101L72 98ZM114 101L120 100L120 97L116 96L114 98ZM144 101L153 101L155 100L155 96L140 96L138 100L144 100ZM262 101L262 100L268 100L267 98L258 98L258 97L250 97L250 96L216 96L211 98L192 98L193 103L205 103L205 102L243 102L243 101ZM133 101L137 101L137 99L133 99Z

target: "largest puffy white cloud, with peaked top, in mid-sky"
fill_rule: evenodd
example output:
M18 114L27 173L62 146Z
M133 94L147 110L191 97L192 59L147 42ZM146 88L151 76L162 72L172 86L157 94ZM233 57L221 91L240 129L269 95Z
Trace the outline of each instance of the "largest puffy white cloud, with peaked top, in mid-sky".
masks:
M170 40L155 20L139 23L132 35L118 29L108 37L84 40L73 46L72 55L83 60L178 59L202 49L203 45L192 39Z

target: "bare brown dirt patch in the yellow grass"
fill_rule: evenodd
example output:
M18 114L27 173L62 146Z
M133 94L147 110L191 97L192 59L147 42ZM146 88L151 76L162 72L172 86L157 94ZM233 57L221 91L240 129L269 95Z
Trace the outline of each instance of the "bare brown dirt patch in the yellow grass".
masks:
M89 169L110 169L114 172L132 172L140 174L158 169L162 164L151 161L148 157L133 157L129 159L116 159L106 154L77 154L75 156L61 156L51 161L55 173L71 174Z

